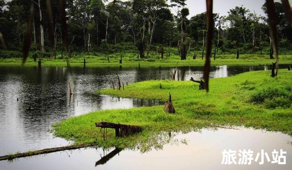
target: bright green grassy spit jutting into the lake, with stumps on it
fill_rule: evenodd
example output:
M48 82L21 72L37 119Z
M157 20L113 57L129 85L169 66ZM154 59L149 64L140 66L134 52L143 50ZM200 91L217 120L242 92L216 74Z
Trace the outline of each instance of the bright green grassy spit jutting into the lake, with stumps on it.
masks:
M129 147L145 151L169 142L169 132L200 129L216 125L244 125L292 135L292 72L256 71L234 77L212 79L210 92L183 81L146 81L131 84L125 90L99 91L126 98L166 100L171 92L176 114L163 112L164 106L97 111L64 120L54 125L55 136L75 144L96 142L103 147ZM162 85L162 89L160 89ZM143 132L115 138L114 131L103 131L94 122L109 121L140 125Z

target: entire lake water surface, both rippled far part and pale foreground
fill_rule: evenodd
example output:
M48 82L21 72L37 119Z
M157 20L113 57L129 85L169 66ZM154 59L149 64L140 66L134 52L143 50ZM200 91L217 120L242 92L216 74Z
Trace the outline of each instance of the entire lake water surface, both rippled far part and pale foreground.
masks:
M210 76L211 78L228 77L242 72L269 68L271 66L212 66ZM280 65L280 68L287 68L287 66ZM193 77L199 80L202 78L202 69L202 67L179 67L179 76L176 79L188 81ZM145 80L170 79L173 70L174 68L158 67L142 67L140 69L138 67L85 69L79 67L42 67L39 69L37 67L0 66L0 155L70 144L70 141L54 137L49 132L53 123L69 117L102 109L163 104L164 102L161 101L97 95L95 91L100 88L110 88L110 81L114 81L116 84L117 74L121 82L127 85ZM72 96L69 94L69 83L73 88ZM237 134L237 132L243 134ZM258 140L247 138L249 134L253 133L257 134L254 137L259 136ZM207 136L207 138L202 136ZM242 136L246 137L242 138ZM141 169L141 167L142 169L166 169L167 167L168 169L174 167L180 169L184 166L181 169L202 169L205 166L210 166L210 169L214 169L218 163L216 161L219 161L219 163L221 161L219 155L222 156L220 150L224 146L234 146L235 149L245 147L242 149L254 149L256 151L277 147L286 149L290 154L288 158L290 160L292 158L292 145L289 143L292 139L290 136L281 133L263 133L252 129L219 129L215 132L202 130L201 133L178 134L176 137L179 139L186 138L189 140L189 144L179 144L179 146L167 144L163 150L144 154L139 151L121 151L119 152L121 156L114 157L109 163L98 167L101 167L99 169L116 169L117 167L120 169L134 169L135 167L135 169ZM274 143L267 142L267 139ZM241 142L241 140L252 141ZM211 142L210 146L212 147L206 146L208 142ZM233 145L227 145L228 143L233 143ZM201 147L201 145L205 147ZM220 147L216 147L217 145ZM62 167L55 167L56 169L72 169L76 166L80 166L80 169L94 169L94 164L99 157L99 153L101 153L100 150L102 149L80 149L21 158L14 162L0 161L0 167L4 167L5 170L37 170L45 169L44 164L55 164L55 166ZM202 160L199 153L206 154L205 157L202 157ZM214 157L212 157L212 154L219 155L213 155ZM158 160L159 158L162 158L162 165L159 165L161 162ZM208 163L211 159L214 159L213 162ZM79 161L78 165L76 165L78 162L76 160ZM66 161L66 164L64 161ZM206 165L203 164L204 161ZM171 162L171 164L168 162ZM271 167L273 168L273 166ZM267 169L271 169L271 167L269 166ZM48 168L52 169L53 167L48 166ZM227 167L222 167L222 169L225 168ZM283 166L283 169L285 168L286 166ZM221 168L218 167L218 169Z

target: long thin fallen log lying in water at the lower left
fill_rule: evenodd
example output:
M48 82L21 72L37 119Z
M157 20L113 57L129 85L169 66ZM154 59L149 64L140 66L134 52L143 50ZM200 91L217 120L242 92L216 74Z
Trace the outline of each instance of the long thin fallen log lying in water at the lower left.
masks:
M95 146L95 145L96 145L96 143L81 144L81 145L64 146L64 147L57 147L57 148L47 148L47 149L38 150L38 151L29 151L29 152L26 152L26 153L9 154L9 155L0 156L0 161L2 161L2 160L13 160L15 158L34 156L34 155L39 155L39 154L55 153L55 152L65 151L65 150L86 148L86 147Z

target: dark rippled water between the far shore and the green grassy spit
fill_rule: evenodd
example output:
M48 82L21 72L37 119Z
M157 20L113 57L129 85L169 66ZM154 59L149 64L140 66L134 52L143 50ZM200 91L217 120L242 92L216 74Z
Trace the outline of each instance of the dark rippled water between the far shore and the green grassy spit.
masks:
M211 68L211 77L228 77L246 71L269 68L270 66L217 66ZM180 80L188 81L190 77L195 79L202 77L202 67L180 67L178 70ZM162 104L159 101L96 95L94 91L109 88L110 80L116 83L116 74L126 85L126 82L130 84L144 80L170 79L171 72L173 68L42 67L38 69L0 66L0 155L68 145L70 142L53 137L49 132L51 125L62 119L101 109ZM72 97L69 95L69 82L73 86ZM72 153L83 154L81 151L83 150L72 151ZM122 153L127 152L122 151ZM58 154L64 156L64 153L48 156ZM37 160L41 157L37 157ZM18 163L9 165L17 166L25 160L20 159ZM33 164L35 159L28 160ZM35 163L38 162L37 160ZM73 162L72 159L71 161ZM3 162L0 162L0 167L2 164Z

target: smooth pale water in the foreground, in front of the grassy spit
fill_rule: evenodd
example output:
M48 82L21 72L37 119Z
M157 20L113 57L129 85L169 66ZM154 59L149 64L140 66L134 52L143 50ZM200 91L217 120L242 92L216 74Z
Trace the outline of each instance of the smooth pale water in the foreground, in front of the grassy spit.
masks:
M287 144L287 141L291 141L292 137L281 133L246 128L239 128L239 130L202 129L200 133L178 133L173 140L185 140L186 142L165 144L161 150L151 150L146 153L131 149L105 151L102 148L87 148L71 150L20 158L12 163L0 161L0 167L4 170L290 170L292 166L292 146ZM250 149L254 152L254 157L262 149L269 156L274 149L277 151L283 149L287 152L285 155L287 165L277 165L266 161L263 165L259 165L255 161L252 161L252 165L249 166L221 165L221 152L224 149L237 152Z

